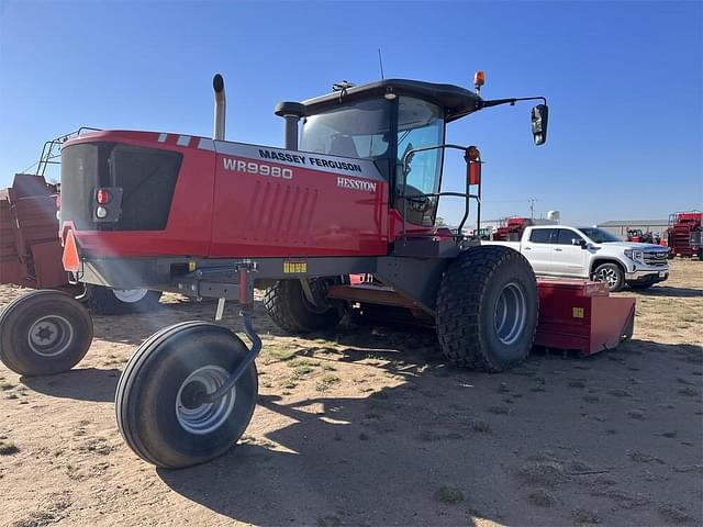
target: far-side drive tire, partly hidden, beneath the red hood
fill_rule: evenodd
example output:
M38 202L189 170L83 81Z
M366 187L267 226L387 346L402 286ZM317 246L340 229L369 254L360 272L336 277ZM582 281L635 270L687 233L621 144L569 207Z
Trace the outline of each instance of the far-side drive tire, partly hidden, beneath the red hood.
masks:
M325 288L327 279L310 280L310 288ZM324 298L324 291L321 298ZM274 323L291 333L310 333L331 329L342 319L341 310L336 305L317 307L312 305L303 294L298 280L279 280L266 290L264 305Z

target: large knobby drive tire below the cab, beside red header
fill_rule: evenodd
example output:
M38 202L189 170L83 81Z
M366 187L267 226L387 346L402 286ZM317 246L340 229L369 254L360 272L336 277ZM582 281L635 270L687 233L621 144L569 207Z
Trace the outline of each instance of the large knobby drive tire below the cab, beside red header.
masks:
M456 366L503 371L532 348L539 313L532 266L507 247L472 247L447 268L437 296L437 336Z

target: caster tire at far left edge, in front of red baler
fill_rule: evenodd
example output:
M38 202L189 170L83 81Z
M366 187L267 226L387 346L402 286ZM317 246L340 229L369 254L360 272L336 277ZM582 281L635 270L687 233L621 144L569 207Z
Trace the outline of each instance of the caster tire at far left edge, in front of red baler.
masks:
M0 360L21 375L68 371L86 356L91 341L90 314L60 291L32 291L0 314Z

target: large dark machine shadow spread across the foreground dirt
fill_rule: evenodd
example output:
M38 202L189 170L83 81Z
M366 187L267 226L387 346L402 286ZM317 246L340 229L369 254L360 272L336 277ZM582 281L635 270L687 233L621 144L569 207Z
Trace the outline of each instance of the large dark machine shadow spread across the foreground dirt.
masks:
M264 526L570 525L602 522L603 512L612 525L665 525L683 489L703 492L696 346L632 340L589 358L532 356L494 375L404 358L379 365L400 384L369 395L261 395L252 428L270 414L286 426L158 475L196 503ZM676 391L665 365L679 375ZM690 422L670 423L672 405L689 408ZM629 466L643 473L633 478ZM461 500L443 501L444 487ZM580 507L583 493L601 513ZM696 514L681 507L679 518Z

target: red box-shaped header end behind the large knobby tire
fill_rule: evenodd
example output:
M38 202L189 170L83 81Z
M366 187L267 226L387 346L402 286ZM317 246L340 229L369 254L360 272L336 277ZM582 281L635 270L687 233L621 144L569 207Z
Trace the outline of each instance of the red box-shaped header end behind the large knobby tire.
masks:
M604 282L538 279L535 346L582 356L617 347L632 337L635 299L610 296Z

